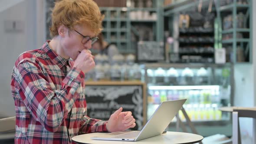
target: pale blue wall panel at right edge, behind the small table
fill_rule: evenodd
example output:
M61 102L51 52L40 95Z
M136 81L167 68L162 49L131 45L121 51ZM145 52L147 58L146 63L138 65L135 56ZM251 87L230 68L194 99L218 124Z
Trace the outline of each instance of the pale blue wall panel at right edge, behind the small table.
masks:
M254 99L254 68L253 64L234 65L234 106L253 107ZM253 119L240 118L240 131L243 141L252 141L253 137Z

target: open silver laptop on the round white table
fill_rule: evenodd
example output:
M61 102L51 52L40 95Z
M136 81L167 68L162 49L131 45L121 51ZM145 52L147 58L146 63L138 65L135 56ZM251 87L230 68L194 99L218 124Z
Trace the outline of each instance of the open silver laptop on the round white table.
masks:
M96 137L93 140L140 141L163 133L187 99L163 101L154 111L141 131L117 131Z

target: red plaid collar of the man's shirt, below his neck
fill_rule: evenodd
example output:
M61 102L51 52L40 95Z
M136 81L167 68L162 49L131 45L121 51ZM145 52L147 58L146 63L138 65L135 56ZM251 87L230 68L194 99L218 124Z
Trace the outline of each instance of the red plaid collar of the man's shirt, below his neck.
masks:
M49 46L50 40L48 40L44 45L43 45L43 51L46 52L46 55L49 56L50 59L55 62L60 69L66 64L68 64L69 59L64 59L61 56L59 56L53 49L50 48Z

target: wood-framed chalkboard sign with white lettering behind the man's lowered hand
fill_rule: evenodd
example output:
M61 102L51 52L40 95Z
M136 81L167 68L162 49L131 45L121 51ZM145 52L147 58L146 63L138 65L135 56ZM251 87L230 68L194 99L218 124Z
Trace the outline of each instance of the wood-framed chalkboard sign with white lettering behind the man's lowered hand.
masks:
M85 82L87 115L108 120L118 108L131 111L135 128L141 130L146 123L145 86L141 82Z

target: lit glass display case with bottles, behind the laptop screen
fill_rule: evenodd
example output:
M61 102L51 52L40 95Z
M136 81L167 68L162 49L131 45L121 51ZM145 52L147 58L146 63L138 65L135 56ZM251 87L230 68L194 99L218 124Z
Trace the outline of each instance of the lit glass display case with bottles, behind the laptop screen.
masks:
M195 125L222 127L230 123L230 115L219 108L233 103L232 64L145 64L144 80L148 85L148 119L161 101L186 98L183 107ZM185 121L181 111L179 117ZM175 122L176 118L169 128Z

